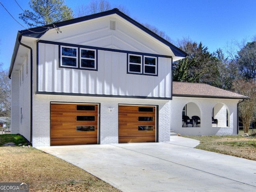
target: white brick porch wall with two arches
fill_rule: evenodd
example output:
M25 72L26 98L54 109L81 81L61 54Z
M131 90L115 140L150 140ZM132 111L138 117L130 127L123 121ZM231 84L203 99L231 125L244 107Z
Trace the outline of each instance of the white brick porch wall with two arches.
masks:
M190 105L190 103L193 103ZM235 99L173 97L171 101L171 129L182 135L232 135L237 134L237 103ZM182 109L185 105L197 107L194 113L201 119L200 127L182 127ZM218 127L212 124L212 109ZM191 118L193 110L189 109ZM228 126L226 126L228 110ZM219 123L220 121L220 123Z

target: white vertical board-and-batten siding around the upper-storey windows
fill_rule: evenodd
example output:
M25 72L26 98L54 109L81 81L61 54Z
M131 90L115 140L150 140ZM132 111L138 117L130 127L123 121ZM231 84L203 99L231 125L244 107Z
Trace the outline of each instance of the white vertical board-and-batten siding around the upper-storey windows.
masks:
M127 74L125 52L98 50L98 71L59 68L59 48L38 43L38 92L171 97L172 59L158 57L158 76Z

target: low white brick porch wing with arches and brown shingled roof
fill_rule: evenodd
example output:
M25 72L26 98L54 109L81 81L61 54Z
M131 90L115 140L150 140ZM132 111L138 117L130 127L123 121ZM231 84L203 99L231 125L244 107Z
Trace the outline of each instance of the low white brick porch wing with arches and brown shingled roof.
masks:
M190 94L182 94L186 90ZM181 135L237 134L237 103L244 98L207 84L173 82L170 129Z

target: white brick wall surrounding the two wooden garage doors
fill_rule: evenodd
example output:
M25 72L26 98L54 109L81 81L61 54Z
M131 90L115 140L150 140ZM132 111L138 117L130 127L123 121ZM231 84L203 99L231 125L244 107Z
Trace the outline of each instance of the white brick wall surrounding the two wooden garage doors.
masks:
M33 138L35 147L50 146L50 102L99 103L99 143L118 143L118 104L159 105L159 141L170 140L170 101L129 98L34 95ZM108 108L114 108L111 112Z

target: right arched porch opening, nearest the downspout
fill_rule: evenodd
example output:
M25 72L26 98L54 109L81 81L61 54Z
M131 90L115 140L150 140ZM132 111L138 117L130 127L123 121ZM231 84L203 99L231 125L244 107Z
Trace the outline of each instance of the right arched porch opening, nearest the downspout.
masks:
M217 103L212 108L212 127L228 127L229 113L226 105Z

